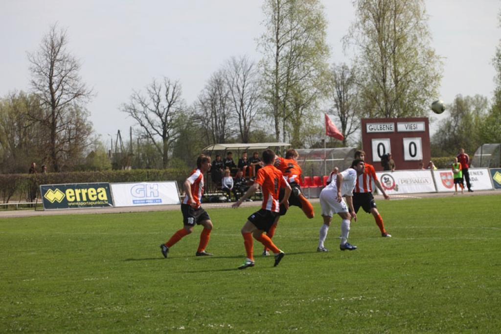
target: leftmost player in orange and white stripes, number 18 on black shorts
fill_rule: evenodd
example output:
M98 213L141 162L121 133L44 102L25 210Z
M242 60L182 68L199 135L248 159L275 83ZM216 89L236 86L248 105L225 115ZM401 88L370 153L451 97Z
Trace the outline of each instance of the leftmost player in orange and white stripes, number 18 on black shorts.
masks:
M196 159L197 169L191 172L190 176L184 182L184 190L186 196L181 204L181 212L183 214L183 228L178 230L170 239L160 245L163 257L167 257L170 247L174 246L184 236L193 232L195 225L202 225L203 230L200 233L200 243L196 250L196 256L212 255L205 251L205 247L209 243L210 231L212 230L212 222L210 217L200 206L200 199L203 194L203 174L210 170L210 156L200 154Z

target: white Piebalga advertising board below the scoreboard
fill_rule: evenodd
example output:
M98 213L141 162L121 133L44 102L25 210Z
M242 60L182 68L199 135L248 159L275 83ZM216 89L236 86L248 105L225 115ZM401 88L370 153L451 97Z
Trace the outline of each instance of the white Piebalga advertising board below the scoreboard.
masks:
M436 192L431 171L376 172L388 195Z

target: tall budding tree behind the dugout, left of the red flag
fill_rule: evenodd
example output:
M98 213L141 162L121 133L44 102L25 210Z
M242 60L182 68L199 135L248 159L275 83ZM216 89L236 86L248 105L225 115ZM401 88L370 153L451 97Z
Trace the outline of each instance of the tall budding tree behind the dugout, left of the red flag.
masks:
M267 0L263 11L263 96L275 139L292 137L297 143L304 115L316 107L325 86L329 48L324 8L318 0Z

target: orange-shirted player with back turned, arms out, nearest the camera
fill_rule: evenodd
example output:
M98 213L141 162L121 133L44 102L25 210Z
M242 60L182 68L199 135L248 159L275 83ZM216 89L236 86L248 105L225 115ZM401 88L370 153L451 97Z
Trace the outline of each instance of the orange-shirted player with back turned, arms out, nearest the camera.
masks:
M243 244L247 258L245 262L238 267L238 269L245 269L254 267L254 242L253 236L256 240L261 242L265 247L268 247L275 254L275 265L278 266L285 253L281 251L272 239L263 234L268 232L280 217L280 205L284 205L287 210L289 196L291 195L291 186L285 181L284 175L273 164L275 162L275 152L267 149L263 152L263 162L265 166L258 171L256 181L247 190L247 192L234 203L231 207L238 208L243 201L252 196L260 187L263 190L263 205L261 210L253 213L247 218L247 222L241 229ZM280 189L284 188L284 198L279 202Z

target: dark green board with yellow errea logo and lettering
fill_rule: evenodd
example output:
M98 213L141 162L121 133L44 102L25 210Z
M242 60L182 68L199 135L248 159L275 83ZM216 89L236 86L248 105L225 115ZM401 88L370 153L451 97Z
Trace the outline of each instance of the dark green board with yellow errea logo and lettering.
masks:
M42 185L45 210L113 207L109 183Z

